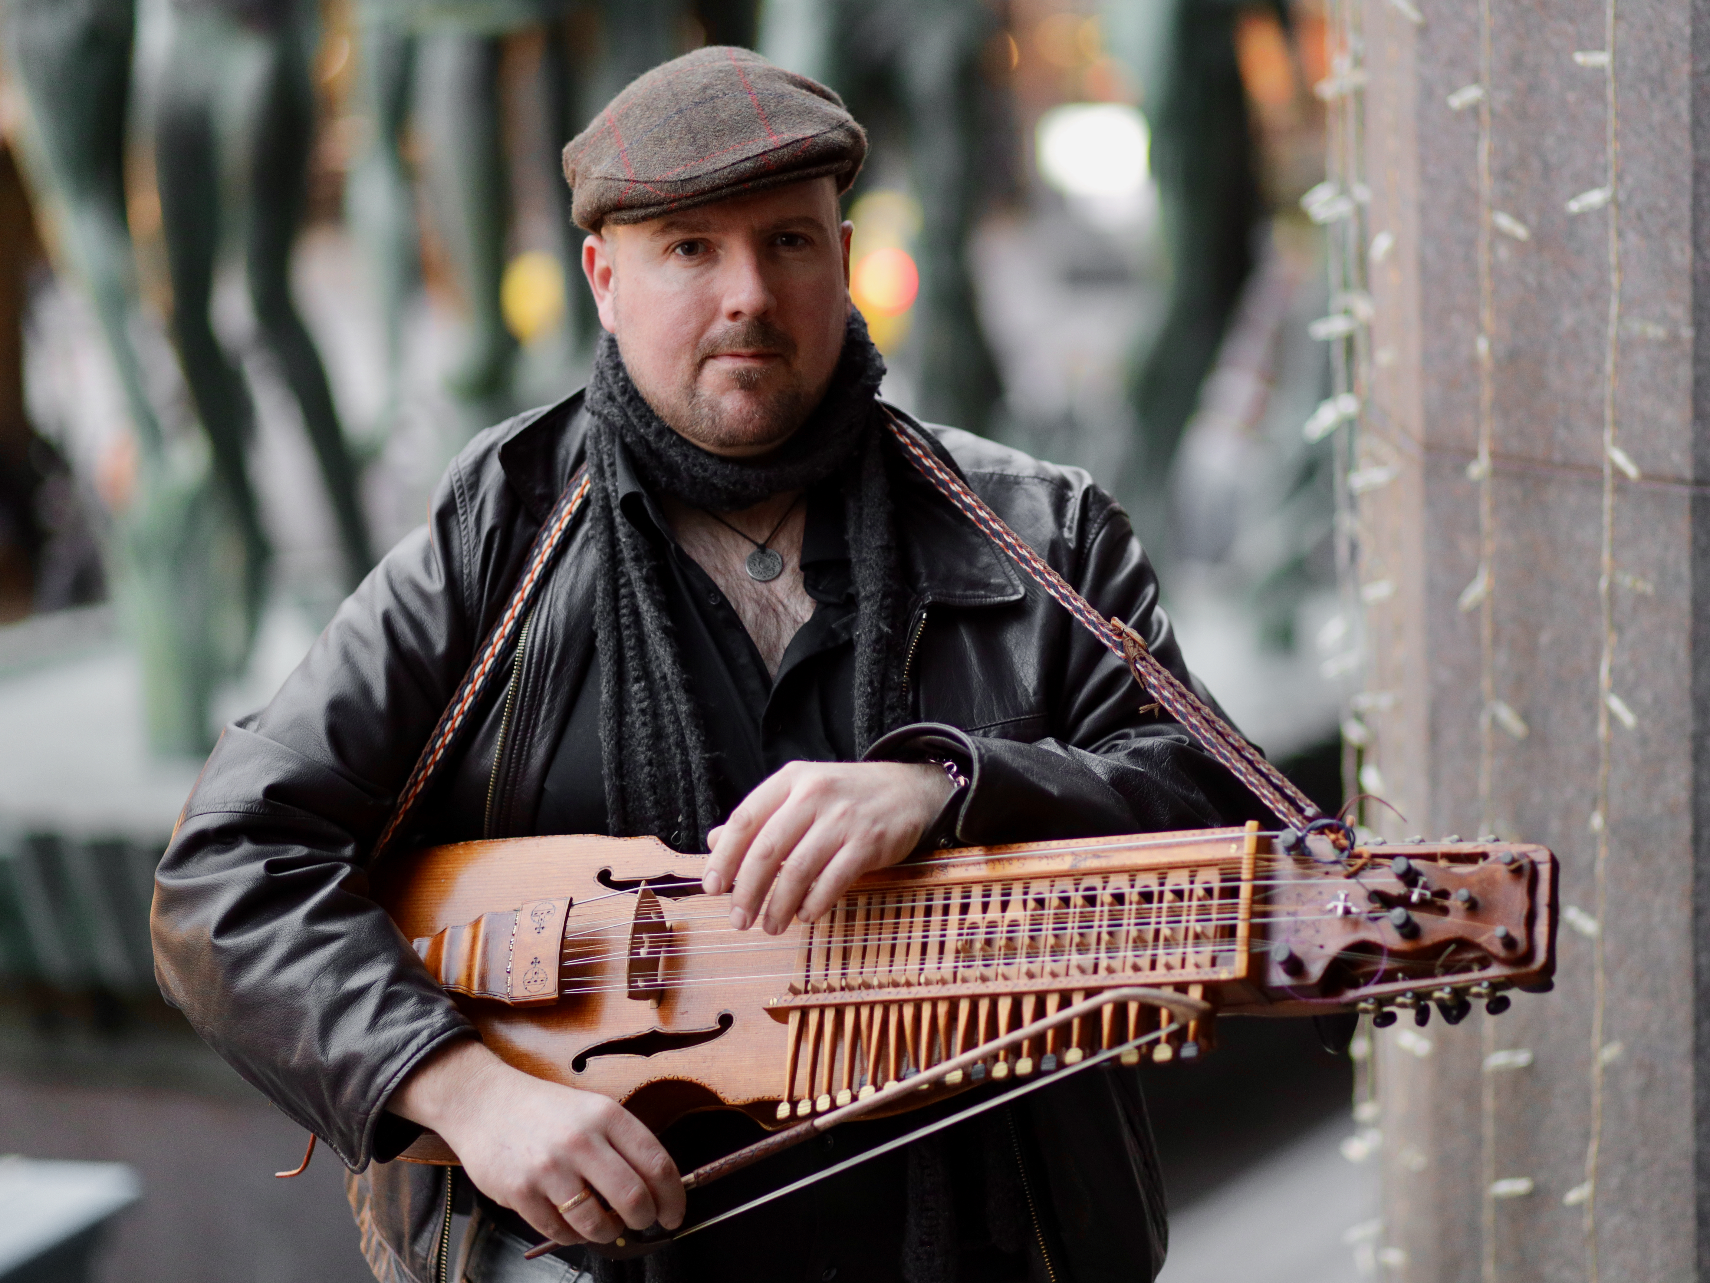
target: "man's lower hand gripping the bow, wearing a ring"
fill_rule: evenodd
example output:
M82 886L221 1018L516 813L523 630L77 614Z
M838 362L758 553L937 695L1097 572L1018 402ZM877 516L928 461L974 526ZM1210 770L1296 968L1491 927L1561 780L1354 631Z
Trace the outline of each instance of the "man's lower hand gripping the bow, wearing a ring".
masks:
M554 1242L609 1244L622 1225L682 1223L677 1165L634 1114L511 1069L474 1038L410 1071L386 1109L439 1132L482 1194ZM585 1189L598 1197L561 1216L557 1208Z

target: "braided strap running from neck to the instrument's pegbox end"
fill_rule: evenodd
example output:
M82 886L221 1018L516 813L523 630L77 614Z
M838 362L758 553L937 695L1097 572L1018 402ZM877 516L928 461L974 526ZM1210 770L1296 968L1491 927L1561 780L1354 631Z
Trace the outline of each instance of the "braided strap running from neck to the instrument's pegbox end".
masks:
M1318 807L1294 787L1294 783L1272 766L1264 753L1253 748L1245 736L1207 708L1194 691L1176 681L1158 657L1147 648L1144 638L1120 619L1105 619L1079 592L1069 587L1062 575L1047 565L1021 537L1011 530L1004 518L992 511L978 494L951 472L935 453L920 440L918 433L886 411L891 435L903 446L908 460L925 474L944 498L990 539L997 547L1021 566L1050 597L1062 606L1076 621L1096 636L1112 653L1120 655L1151 696L1206 748L1235 778L1247 785L1252 794L1264 802L1272 814L1305 830L1312 819L1320 816Z

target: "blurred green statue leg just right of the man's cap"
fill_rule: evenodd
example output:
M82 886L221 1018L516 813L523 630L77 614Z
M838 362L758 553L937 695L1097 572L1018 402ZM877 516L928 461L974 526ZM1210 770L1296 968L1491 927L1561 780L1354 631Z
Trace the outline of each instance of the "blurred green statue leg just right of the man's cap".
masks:
M968 243L980 212L982 55L997 31L983 0L768 0L761 51L829 84L857 120L908 149L920 202L917 409L983 433L1002 397L980 327ZM870 169L872 166L869 166Z

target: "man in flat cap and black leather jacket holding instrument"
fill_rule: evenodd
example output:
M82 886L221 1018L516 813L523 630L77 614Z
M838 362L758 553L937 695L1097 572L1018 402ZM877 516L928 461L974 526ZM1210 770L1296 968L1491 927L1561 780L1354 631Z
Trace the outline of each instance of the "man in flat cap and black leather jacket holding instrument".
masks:
M361 1174L352 1206L381 1280L443 1278L465 1197L477 1228L458 1268L475 1283L1149 1280L1163 1259L1137 1083L1100 1071L612 1266L578 1244L679 1225L679 1170L756 1129L713 1112L655 1138L610 1100L501 1064L366 896L366 854L581 465L585 515L412 843L652 833L710 850L686 867L730 893L732 924L778 932L925 845L1248 814L1178 725L1142 710L1127 669L887 443L838 212L864 154L831 91L740 50L619 94L566 149L607 330L587 392L453 462L429 527L268 708L227 727L185 807L157 883L161 984ZM964 433L929 436L1187 676L1108 496ZM906 1124L840 1129L693 1209ZM386 1162L422 1127L460 1177ZM542 1239L566 1247L523 1261Z

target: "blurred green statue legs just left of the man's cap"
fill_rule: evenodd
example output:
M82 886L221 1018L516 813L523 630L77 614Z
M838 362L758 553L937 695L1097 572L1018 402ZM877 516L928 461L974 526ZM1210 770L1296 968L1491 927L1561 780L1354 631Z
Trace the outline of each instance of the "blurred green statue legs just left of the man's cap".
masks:
M504 322L501 284L511 231L511 171L501 109L504 38L542 29L535 92L545 145L534 157L556 202L568 298L566 368L585 364L598 334L581 281L581 233L569 221L559 149L641 72L682 51L689 19L713 43L751 43L751 0L366 0L361 21L361 99L371 144L352 174L349 210L376 265L388 334L386 409L402 399L404 315L419 275L416 200L404 139L414 113L434 228L446 246L467 310L463 351L448 387L477 428L513 409L516 339Z

